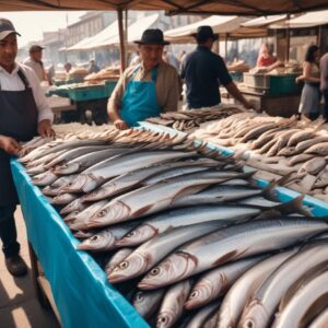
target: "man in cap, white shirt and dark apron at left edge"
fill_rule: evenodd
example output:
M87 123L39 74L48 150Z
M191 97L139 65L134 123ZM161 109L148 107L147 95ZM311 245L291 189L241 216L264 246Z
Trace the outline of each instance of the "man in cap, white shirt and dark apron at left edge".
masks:
M34 136L50 137L52 113L34 71L15 62L20 35L13 24L0 19L0 238L5 266L13 276L26 273L20 256L14 211L19 203L10 169L20 141Z

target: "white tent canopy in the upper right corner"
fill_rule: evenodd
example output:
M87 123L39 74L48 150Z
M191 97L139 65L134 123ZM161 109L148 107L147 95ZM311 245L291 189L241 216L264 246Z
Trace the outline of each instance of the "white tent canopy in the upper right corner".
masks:
M308 12L295 19L288 20L280 24L272 24L270 28L304 28L328 24L328 10Z

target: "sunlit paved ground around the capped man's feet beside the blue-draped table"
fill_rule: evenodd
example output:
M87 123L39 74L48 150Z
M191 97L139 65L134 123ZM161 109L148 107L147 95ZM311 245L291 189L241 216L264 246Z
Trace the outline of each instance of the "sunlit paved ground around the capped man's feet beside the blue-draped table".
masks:
M39 305L33 289L26 232L22 213L16 211L21 255L28 265L28 274L13 278L8 273L0 251L0 327L1 328L59 328L51 311Z

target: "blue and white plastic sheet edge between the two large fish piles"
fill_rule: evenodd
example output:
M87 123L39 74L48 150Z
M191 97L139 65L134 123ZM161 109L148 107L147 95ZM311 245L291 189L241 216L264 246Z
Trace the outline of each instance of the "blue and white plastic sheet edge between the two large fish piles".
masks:
M169 136L185 136L185 132L180 132L180 131L176 131L172 128L168 127L163 127L160 125L154 125L154 124L150 124L150 122L140 122L140 128L141 129L145 129L145 130L150 130L150 131L155 131L155 132L165 132L165 133L169 133ZM195 143L198 145L200 144L202 141L201 140L195 140ZM219 153L221 153L224 156L230 156L233 155L234 152L231 151L230 149L226 149L224 147L211 143L211 142L207 142L207 147L209 149L212 150L216 150ZM254 168L245 166L244 171L254 171ZM265 188L269 185L268 181L263 180L263 179L258 179L255 178L256 184L260 187L260 188ZM278 198L285 202L285 201L290 201L296 197L298 197L301 194L293 191L291 189L284 188L284 187L277 187L274 189L277 191ZM311 196L305 196L303 203L305 206L308 206L312 210L312 213L315 216L326 216L328 215L328 204L325 201L321 201L319 199L316 199L314 197Z

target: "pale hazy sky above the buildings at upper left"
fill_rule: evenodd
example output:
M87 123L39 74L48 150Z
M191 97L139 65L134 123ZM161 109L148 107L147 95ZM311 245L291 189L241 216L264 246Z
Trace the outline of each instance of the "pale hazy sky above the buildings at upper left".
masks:
M78 21L85 11L20 11L1 12L21 34L19 47L43 39L43 32L54 32Z

